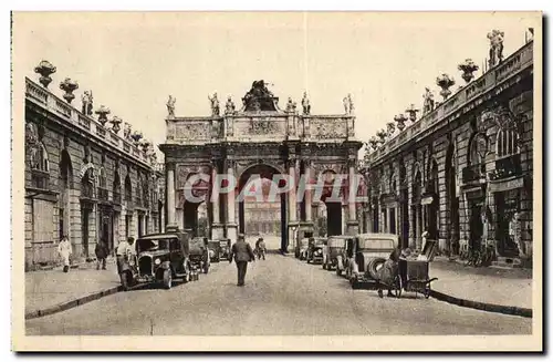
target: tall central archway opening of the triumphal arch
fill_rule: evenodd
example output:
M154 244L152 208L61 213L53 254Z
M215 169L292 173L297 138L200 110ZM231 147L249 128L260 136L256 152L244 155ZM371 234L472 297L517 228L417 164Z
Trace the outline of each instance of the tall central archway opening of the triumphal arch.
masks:
M238 179L238 231L247 241L259 237L268 250L288 249L288 213L285 179L275 167L258 164L247 168Z

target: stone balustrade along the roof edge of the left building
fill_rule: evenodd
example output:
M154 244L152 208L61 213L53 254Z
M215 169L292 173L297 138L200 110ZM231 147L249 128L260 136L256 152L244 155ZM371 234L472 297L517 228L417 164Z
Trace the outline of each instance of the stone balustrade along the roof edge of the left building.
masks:
M124 139L109 128L102 126L102 124L93 117L82 114L65 101L28 77L25 77L25 99L79 128L86 131L91 138L95 138L97 142L107 143L142 164L148 166L154 165L152 158L142 148Z

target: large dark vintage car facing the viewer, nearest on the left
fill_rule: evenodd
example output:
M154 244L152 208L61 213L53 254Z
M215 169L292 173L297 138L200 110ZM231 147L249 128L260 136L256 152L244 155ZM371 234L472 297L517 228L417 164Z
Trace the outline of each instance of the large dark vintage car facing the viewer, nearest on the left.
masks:
M161 282L170 289L173 279L190 280L189 235L176 228L136 240L137 282Z

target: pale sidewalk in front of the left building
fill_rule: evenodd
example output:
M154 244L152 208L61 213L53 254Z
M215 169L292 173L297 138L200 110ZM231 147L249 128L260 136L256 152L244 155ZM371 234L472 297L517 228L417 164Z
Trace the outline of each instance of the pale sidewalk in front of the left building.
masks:
M107 270L96 270L95 262L80 265L69 272L62 268L25 272L25 318L59 308L60 304L75 302L91 294L111 290L119 286L115 261L108 260ZM108 292L106 292L108 293Z

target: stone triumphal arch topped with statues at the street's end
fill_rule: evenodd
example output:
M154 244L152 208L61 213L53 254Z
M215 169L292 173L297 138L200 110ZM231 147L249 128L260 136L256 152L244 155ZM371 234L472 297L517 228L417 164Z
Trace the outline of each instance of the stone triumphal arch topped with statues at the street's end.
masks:
M351 182L344 183L341 199L328 197L328 185L336 185L332 175L351 175L348 179L354 179L362 146L355 139L351 96L343 100L343 114L315 115L306 94L301 110L291 99L281 108L268 84L255 81L242 97L240 108L230 96L222 106L217 93L209 101L211 115L176 116L175 99L169 96L167 136L159 146L165 154L167 225L195 229L202 201L186 197L192 188L194 195L206 195L211 239L229 238L233 242L244 230L243 201L237 195L252 175L269 179L286 175L296 185L302 176L322 176L325 182L319 200L313 200L315 189L309 187L302 197L298 197L294 187L279 195L281 248L288 250L290 242L313 234L313 217L320 203L326 206L328 235L357 231L356 205L346 197L353 189ZM198 174L210 175L210 180L190 183L190 177ZM236 178L236 187L220 197L210 197L221 174ZM221 186L229 185L218 185Z

